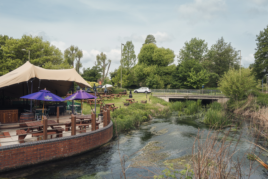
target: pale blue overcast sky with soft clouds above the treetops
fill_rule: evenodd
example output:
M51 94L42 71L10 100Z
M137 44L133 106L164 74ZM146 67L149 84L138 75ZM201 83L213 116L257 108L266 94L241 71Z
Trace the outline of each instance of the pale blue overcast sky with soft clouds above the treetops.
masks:
M120 65L121 43L132 41L138 55L149 34L176 55L191 38L205 40L210 49L223 37L241 50L241 65L248 67L256 35L268 24L268 0L0 0L0 24L1 35L43 36L62 53L78 46L85 68L104 52L113 71Z

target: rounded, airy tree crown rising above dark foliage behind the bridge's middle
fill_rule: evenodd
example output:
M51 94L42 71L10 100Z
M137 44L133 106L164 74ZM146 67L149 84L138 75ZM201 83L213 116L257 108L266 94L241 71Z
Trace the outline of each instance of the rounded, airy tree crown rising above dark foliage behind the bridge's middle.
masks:
M192 38L189 42L184 43L184 47L180 49L179 62L195 59L196 61L202 62L206 59L206 54L208 52L208 43L205 43L205 40L199 38Z

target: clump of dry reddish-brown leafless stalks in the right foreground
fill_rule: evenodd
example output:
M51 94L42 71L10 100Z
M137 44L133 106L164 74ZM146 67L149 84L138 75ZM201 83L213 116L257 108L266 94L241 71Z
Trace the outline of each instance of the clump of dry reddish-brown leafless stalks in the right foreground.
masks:
M194 178L243 178L245 175L242 171L242 163L233 155L238 152L237 145L240 141L233 144L233 138L226 140L229 132L224 136L219 136L216 130L210 131L207 135L198 131L192 150L192 161L194 169ZM222 138L219 141L219 138ZM245 156L243 157L245 158ZM251 175L251 167L250 173Z

